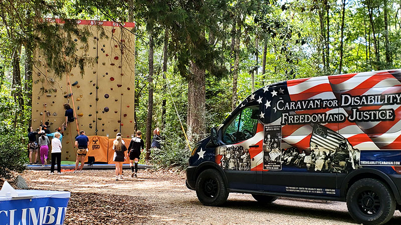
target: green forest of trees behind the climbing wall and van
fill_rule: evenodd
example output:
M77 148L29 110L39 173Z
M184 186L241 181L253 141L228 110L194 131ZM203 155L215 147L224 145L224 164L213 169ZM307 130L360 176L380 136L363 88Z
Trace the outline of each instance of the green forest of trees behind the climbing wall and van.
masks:
M134 21L135 126L157 166L185 167L179 117L194 143L240 100L273 82L401 67L398 0L0 1L0 177L26 162L33 52L61 77L90 59L75 19ZM64 25L43 18L66 19ZM67 20L68 19L68 20ZM85 75L85 74L83 74ZM57 77L56 77L57 78ZM174 102L176 110L174 107ZM5 169L7 168L7 169Z

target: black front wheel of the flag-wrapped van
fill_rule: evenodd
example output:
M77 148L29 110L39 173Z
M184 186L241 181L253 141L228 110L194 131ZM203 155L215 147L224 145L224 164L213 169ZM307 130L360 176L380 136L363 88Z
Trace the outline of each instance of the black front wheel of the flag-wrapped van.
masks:
M196 179L196 196L204 205L218 206L226 202L229 192L216 169L206 169Z

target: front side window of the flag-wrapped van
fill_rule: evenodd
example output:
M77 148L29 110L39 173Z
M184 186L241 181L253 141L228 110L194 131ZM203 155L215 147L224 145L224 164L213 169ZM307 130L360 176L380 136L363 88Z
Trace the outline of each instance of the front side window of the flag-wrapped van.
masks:
M223 126L223 142L237 143L251 138L256 133L259 105L243 108L233 119Z

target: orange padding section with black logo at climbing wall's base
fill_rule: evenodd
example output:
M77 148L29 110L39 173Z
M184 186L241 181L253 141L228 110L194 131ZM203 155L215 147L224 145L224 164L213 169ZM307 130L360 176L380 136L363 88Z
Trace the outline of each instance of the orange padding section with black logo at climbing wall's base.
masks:
M88 161L88 156L94 156L95 161L107 162L107 149L109 138L107 136L88 136L89 146L85 161Z

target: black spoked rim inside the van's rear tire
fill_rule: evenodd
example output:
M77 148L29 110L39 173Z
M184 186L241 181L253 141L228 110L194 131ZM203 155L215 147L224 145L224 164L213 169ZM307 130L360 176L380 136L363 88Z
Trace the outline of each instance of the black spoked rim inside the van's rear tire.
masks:
M359 193L357 202L359 210L366 215L374 215L380 209L379 195L372 190L365 190Z

